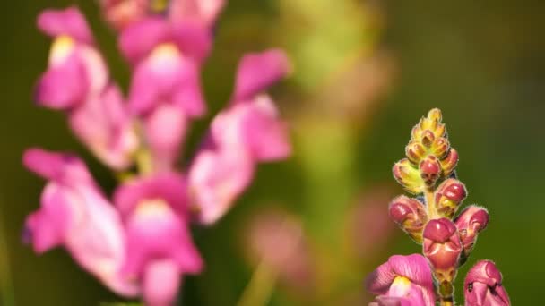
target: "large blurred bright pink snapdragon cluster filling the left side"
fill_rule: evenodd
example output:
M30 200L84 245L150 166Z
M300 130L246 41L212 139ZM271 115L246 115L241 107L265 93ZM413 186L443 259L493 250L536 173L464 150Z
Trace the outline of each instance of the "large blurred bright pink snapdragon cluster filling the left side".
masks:
M206 112L200 74L222 0L103 0L132 69L126 98L75 7L46 10L53 38L39 106L63 111L75 136L123 179L111 197L69 153L28 149L23 164L48 181L23 239L38 253L63 246L115 293L169 305L203 269L189 225L212 225L259 162L290 155L286 124L264 91L289 72L281 50L245 55L228 106L188 166L178 159L191 120Z

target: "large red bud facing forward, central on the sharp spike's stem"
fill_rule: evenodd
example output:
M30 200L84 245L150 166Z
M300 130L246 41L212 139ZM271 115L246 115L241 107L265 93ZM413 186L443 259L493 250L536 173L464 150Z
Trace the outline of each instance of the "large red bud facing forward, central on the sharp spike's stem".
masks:
M434 268L437 281L452 282L462 253L456 226L445 217L434 219L424 228L423 237L424 255Z

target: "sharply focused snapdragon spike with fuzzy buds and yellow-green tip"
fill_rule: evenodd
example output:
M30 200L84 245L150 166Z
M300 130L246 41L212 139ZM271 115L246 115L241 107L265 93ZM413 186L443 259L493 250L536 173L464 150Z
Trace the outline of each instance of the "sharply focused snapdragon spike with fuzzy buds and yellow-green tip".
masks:
M489 223L487 209L475 205L455 216L467 190L456 178L458 153L441 120L437 108L420 120L412 129L407 157L393 170L397 182L416 198L395 198L390 217L422 245L424 256L393 256L368 276L368 291L379 294L374 305L435 305L436 296L441 305L453 305L458 268ZM493 262L478 262L465 279L465 305L510 305L501 280Z

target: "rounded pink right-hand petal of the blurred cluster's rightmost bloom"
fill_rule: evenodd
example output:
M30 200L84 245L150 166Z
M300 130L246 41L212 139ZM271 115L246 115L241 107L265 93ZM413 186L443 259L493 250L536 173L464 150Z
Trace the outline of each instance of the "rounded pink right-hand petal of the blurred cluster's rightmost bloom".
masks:
M278 118L270 98L256 98L242 124L247 144L257 160L279 160L290 155L286 125Z

